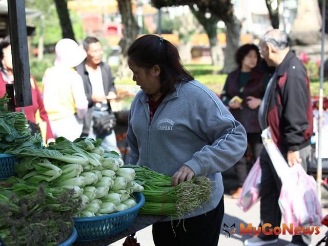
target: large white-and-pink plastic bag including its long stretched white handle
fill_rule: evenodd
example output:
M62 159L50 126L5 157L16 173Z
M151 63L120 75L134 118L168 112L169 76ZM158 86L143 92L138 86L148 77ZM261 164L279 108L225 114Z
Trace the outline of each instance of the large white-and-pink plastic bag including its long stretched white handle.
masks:
M299 226L320 226L322 219L314 178L301 165L289 167L271 139L270 128L262 132L262 140L273 166L281 180L279 207L285 223Z

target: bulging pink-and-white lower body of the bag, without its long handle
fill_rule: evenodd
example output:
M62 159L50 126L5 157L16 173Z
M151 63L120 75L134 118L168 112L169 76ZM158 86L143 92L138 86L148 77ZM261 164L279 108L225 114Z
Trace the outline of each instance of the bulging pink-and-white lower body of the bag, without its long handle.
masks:
M301 165L290 168L288 179L283 180L279 206L285 223L295 227L321 226L322 212L314 178Z

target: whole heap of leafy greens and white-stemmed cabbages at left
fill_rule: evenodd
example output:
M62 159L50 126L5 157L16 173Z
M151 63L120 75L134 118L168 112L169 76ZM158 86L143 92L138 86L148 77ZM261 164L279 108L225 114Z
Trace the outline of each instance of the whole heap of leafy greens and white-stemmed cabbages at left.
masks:
M49 147L31 136L21 112L0 98L0 153L16 155L18 177L0 182L0 239L8 245L56 245L72 232L72 217L126 210L136 204L133 169L121 169L101 139L59 137ZM64 233L65 232L65 233Z

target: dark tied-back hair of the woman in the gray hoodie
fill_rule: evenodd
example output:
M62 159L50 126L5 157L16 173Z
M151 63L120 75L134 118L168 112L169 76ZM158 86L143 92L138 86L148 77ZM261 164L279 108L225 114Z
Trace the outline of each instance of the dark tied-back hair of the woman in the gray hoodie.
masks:
M181 65L177 48L162 37L147 34L136 39L128 50L128 57L142 68L160 67L161 93L175 91L174 85L193 80L193 76Z

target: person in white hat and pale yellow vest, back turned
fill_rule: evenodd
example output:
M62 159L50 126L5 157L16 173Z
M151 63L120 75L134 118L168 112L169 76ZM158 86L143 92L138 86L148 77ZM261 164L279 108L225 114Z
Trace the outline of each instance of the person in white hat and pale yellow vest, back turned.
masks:
M88 100L81 76L73 69L86 58L86 52L69 38L58 41L56 59L43 77L44 105L55 137L73 141L82 132Z

